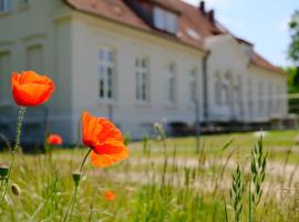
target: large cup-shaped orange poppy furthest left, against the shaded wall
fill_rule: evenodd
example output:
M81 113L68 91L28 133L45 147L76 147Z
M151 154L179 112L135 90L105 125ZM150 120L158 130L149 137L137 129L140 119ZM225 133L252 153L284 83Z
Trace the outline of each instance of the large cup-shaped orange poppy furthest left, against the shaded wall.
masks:
M53 81L33 71L12 72L12 95L18 105L35 107L47 102L54 91Z

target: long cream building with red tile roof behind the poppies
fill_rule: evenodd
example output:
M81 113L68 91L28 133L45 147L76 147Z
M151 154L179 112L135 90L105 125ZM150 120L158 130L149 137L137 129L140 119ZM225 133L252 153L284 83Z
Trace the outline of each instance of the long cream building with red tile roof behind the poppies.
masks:
M0 0L0 133L14 132L10 73L30 69L56 83L51 101L25 119L40 140L34 130L48 129L76 142L82 110L133 138L162 119L192 124L196 110L207 125L287 115L286 74L204 2Z

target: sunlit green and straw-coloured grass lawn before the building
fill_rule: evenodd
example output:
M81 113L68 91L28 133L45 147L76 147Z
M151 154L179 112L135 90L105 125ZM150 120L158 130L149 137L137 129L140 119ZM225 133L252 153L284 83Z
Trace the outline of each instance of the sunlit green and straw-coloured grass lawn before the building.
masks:
M264 193L256 221L298 221L299 147L297 131L272 131L264 138L268 152ZM148 139L132 142L130 158L109 169L87 162L76 202L65 221L234 221L231 173L237 165L248 182L254 133L196 139ZM18 154L1 221L63 221L73 192L72 172L87 149L56 148L47 154ZM10 155L1 153L0 163ZM107 201L111 190L115 200ZM247 195L241 221L248 221ZM227 212L227 213L226 213Z

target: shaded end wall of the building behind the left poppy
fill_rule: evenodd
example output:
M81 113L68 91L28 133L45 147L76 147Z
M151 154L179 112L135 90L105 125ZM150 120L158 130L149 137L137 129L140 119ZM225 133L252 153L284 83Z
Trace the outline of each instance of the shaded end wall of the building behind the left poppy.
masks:
M33 129L30 125L39 121L44 123L47 114L48 132L62 133L68 141L72 129L68 121L71 117L71 23L66 19L70 9L61 0L30 0L28 6L11 2L12 10L0 14L0 54L11 54L11 65L6 73L1 73L4 75L2 78L10 80L11 71L20 72L29 68L50 75L55 82L55 92L47 104L29 109L24 127ZM29 64L29 48L40 49L40 62L35 65L33 62L34 67ZM10 81L4 84L10 84ZM4 98L6 102L0 101L0 112L3 107L6 111L14 111L17 105L10 88L4 92ZM56 118L58 113L64 117Z

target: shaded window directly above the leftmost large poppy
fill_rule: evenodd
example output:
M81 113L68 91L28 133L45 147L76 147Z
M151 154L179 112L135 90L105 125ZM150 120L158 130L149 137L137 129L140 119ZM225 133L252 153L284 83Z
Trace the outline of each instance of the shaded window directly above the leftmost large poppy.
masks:
M32 46L27 48L27 69L37 72L43 72L42 46Z

